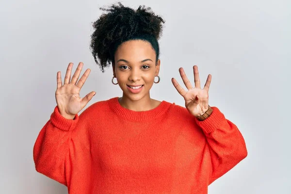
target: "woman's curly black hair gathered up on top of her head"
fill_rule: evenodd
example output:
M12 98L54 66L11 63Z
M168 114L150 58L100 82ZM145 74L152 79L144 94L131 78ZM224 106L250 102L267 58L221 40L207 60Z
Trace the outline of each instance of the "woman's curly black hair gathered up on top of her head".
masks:
M114 63L114 54L118 46L128 40L145 40L149 42L156 52L156 63L159 59L160 49L158 40L162 35L161 16L156 16L150 7L139 6L135 11L118 2L112 4L109 9L93 23L95 31L91 35L90 49L95 62L104 73L104 68ZM97 57L100 62L97 61Z

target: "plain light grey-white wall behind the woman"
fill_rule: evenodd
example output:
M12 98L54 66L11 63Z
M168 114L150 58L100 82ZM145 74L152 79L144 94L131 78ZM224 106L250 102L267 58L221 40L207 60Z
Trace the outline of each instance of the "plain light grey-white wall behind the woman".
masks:
M85 109L122 95L111 83L112 68L102 73L89 50L99 7L115 2L1 1L1 194L67 193L35 171L33 145L56 106L57 71L64 79L69 62L74 71L84 63L81 75L91 69L80 95L97 95ZM178 68L184 67L194 84L192 67L198 65L202 87L212 75L210 105L242 132L247 158L214 181L209 194L290 194L291 1L121 2L134 9L145 4L165 20L161 82L153 85L151 97L184 106L171 78L183 85Z

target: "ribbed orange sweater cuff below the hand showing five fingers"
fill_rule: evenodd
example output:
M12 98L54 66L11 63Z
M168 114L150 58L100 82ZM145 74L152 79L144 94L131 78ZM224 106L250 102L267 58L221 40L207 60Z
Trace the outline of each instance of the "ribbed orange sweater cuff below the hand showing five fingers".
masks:
M76 127L76 124L79 121L79 116L78 114L76 114L74 119L66 119L59 112L58 106L56 106L54 108L53 113L50 115L50 120L51 120L51 123L58 129L69 131Z

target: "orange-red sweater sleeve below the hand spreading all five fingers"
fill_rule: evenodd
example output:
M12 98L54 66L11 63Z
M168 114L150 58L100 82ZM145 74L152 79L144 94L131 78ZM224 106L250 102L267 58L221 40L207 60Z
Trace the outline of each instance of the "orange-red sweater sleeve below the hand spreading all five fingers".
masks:
M69 147L71 131L79 121L66 119L55 107L49 121L41 129L33 146L33 160L37 172L67 186L66 177L70 172Z

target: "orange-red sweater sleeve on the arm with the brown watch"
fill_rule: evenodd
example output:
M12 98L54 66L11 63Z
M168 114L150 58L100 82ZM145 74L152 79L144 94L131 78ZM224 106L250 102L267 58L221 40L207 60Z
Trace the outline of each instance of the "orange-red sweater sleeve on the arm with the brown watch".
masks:
M227 120L217 107L211 107L210 116L197 125L203 130L209 145L211 174L209 184L220 178L247 156L247 149L241 132Z

